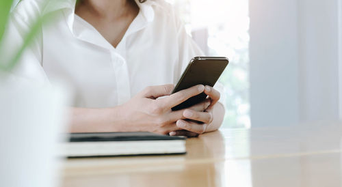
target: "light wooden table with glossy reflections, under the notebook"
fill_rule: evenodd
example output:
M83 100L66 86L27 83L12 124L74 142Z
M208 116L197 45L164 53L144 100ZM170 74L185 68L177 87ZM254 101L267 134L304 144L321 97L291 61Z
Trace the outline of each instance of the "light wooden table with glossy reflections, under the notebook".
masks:
M183 156L69 159L62 186L342 186L342 124L223 129Z

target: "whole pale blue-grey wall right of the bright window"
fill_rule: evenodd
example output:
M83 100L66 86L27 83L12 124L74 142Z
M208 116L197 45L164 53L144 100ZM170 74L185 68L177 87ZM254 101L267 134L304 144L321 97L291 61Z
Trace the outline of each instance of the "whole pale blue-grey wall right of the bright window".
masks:
M252 127L339 119L339 0L250 0Z

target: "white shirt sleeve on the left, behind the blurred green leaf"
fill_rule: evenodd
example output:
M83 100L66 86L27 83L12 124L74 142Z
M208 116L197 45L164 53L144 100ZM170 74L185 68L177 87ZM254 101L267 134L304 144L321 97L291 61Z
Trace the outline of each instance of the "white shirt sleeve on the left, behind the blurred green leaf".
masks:
M36 10L34 1L21 1L13 10L0 44L0 55L4 62L10 61L18 53L38 15L39 11ZM10 76L20 80L49 83L42 68L41 29L31 44L23 51L14 70L9 73Z

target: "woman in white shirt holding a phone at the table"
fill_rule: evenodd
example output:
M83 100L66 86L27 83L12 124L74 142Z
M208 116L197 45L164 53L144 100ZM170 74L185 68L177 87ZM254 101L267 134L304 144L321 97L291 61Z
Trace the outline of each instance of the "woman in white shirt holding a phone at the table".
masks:
M8 25L10 48L38 15L52 16L53 24L42 26L16 74L62 78L74 88L71 132L197 136L220 127L224 107L216 89L197 85L170 95L189 59L202 53L168 3L24 0ZM203 91L205 102L171 111Z

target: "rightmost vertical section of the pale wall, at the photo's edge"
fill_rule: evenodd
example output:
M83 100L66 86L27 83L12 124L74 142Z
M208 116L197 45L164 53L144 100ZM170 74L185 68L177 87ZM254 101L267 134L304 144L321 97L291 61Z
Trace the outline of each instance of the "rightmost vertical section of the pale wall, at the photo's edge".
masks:
M300 0L300 120L339 118L337 0Z

